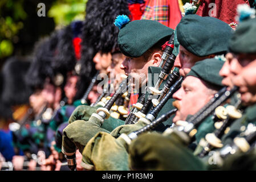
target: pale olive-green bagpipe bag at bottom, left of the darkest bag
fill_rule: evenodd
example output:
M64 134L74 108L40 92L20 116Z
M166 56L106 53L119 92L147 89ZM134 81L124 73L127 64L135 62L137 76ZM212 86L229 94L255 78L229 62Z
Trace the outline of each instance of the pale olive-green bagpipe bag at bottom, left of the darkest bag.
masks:
M97 133L84 147L81 166L96 171L127 171L128 153L122 142L108 133Z

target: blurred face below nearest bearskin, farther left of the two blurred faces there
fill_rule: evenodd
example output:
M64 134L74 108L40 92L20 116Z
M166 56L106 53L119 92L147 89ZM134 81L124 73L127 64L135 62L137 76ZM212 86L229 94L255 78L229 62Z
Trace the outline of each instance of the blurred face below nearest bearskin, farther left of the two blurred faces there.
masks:
M95 69L99 70L100 73L107 74L107 68L111 64L111 53L97 52L92 60L95 63Z

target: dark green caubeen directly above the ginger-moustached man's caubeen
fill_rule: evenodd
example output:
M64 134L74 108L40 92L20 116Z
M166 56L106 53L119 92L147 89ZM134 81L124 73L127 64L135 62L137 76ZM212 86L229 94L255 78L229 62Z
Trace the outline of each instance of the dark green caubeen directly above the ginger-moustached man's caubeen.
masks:
M181 46L199 57L226 53L233 32L228 24L217 18L195 14L184 16L176 29Z

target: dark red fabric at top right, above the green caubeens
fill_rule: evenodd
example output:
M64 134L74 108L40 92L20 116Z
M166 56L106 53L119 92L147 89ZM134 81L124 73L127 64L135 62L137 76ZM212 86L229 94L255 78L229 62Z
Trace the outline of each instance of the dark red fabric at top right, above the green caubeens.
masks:
M216 15L214 15L214 4L216 4ZM214 18L218 18L227 24L237 22L235 16L237 16L237 5L249 2L247 0L202 0L200 7L198 7L197 15L200 16L213 16ZM212 15L211 15L212 14Z

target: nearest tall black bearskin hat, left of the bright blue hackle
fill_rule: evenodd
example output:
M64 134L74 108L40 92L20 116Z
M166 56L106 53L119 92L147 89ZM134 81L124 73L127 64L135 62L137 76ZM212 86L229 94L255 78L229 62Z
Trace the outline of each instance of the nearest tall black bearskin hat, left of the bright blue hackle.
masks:
M129 15L127 0L88 1L83 26L83 46L92 46L96 51L111 52L117 46L119 29L113 24L116 16Z

